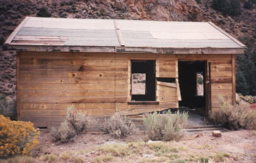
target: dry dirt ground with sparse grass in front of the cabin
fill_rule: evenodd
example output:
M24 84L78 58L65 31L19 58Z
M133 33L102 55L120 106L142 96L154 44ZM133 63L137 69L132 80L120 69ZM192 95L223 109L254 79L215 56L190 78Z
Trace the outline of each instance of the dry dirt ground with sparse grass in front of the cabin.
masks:
M35 156L40 162L44 155L55 155L58 162L256 162L256 130L222 131L218 138L211 132L187 132L178 141L151 143L143 132L120 140L88 133L67 144L42 133Z

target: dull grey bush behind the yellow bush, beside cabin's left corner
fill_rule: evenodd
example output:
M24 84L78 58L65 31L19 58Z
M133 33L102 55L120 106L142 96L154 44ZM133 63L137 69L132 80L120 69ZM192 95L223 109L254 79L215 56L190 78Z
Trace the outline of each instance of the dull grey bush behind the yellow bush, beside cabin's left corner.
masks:
M11 120L17 119L16 100L0 93L0 114L9 117Z

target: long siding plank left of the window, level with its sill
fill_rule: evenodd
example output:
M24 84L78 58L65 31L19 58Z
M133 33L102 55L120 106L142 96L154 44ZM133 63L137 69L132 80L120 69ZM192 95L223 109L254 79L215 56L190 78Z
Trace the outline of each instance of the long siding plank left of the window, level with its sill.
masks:
M130 97L20 97L20 103L114 103L129 100Z

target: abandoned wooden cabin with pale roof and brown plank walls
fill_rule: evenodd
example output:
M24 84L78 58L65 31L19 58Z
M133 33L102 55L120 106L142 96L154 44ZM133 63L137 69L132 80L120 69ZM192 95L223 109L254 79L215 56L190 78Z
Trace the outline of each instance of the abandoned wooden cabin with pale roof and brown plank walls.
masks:
M59 125L72 104L130 117L178 107L206 114L219 95L235 104L235 55L245 48L211 22L33 17L4 44L17 51L18 118L41 128Z

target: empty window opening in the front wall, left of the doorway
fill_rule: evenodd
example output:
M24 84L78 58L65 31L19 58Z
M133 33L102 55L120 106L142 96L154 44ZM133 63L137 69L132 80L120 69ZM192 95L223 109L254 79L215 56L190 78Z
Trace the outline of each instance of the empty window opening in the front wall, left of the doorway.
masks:
M155 101L156 78L154 60L131 61L132 101Z

